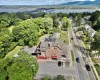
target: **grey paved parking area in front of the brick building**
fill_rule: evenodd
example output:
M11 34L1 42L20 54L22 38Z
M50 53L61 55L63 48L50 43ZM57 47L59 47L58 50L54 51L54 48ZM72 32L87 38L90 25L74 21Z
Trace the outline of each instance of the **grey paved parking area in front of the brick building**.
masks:
M39 70L36 75L36 79L42 78L45 75L50 75L51 77L55 77L57 75L64 75L64 76L73 76L76 77L76 69L74 67L66 67L62 66L59 67L57 62L58 61L38 61L39 62Z

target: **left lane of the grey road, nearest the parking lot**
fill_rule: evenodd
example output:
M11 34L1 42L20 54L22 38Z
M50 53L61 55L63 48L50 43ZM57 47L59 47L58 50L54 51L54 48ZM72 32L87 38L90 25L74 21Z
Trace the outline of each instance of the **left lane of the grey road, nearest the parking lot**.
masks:
M73 37L73 40L71 40L71 42L72 42L72 50L74 52L75 58L77 57L80 58L80 63L76 63L78 80L89 80L88 73L85 69L84 61L82 57L80 56L80 51L76 47L74 47L74 45L78 45L78 44L77 44L77 41L75 40L75 34L72 28L69 29L69 34L70 34L69 35L70 38Z

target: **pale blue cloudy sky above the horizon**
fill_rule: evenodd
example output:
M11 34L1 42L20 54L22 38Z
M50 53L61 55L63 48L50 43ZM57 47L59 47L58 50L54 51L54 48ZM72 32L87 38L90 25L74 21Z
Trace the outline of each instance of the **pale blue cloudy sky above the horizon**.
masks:
M95 1L95 0L0 0L0 5L53 5L73 1Z

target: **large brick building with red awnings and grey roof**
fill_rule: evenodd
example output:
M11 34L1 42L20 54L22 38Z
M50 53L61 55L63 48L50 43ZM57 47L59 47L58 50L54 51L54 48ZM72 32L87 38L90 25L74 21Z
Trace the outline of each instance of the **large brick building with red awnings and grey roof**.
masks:
M36 50L38 59L61 59L63 41L59 38L60 33L45 38Z

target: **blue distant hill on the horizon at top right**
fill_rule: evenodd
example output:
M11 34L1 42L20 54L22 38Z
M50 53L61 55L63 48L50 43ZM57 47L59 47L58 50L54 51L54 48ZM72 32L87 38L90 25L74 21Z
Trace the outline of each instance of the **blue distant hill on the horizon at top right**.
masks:
M100 5L100 0L96 1L74 1L74 2L68 2L68 3L63 3L59 5Z

